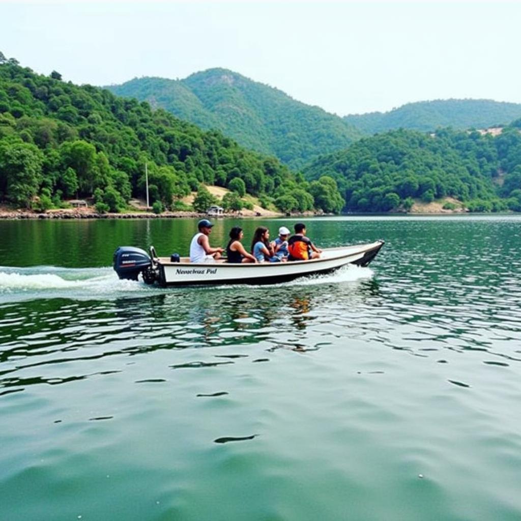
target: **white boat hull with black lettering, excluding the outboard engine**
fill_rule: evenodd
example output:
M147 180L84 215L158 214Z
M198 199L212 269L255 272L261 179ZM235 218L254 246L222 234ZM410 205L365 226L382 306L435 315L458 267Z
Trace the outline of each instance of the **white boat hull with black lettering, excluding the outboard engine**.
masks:
M275 284L305 277L325 274L345 266L367 266L383 245L383 241L357 244L340 248L327 248L320 258L311 261L285 263L227 264L226 262L190 263L170 262L169 258L155 258L161 286L201 286L207 284Z

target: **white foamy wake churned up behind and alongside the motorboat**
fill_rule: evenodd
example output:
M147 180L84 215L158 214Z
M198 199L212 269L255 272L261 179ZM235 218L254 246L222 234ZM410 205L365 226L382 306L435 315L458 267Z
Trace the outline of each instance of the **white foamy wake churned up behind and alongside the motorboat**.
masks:
M370 268L345 266L329 275L314 275L277 284L279 287L339 284L368 279ZM244 288L244 286L232 286ZM206 290L229 289L230 286L206 287ZM267 286L257 286L267 288ZM32 299L68 298L76 300L115 299L125 296L153 295L165 290L147 286L141 280L120 280L111 267L60 268L34 266L30 268L0 266L0 301L16 302ZM177 291L181 291L177 289Z

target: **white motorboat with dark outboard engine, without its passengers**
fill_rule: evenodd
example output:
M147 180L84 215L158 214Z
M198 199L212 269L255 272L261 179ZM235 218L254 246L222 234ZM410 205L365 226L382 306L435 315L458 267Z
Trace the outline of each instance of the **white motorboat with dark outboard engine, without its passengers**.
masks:
M207 286L210 284L276 284L298 277L330 273L342 266L367 266L384 241L325 248L319 258L308 261L230 264L226 259L213 263L191 263L189 257L173 254L159 257L134 246L119 246L114 252L114 269L120 279L139 280L159 286Z

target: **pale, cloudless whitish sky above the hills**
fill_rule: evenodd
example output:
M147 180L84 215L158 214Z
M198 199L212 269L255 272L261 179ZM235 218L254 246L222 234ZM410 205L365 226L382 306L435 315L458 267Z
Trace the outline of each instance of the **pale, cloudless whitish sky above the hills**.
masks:
M224 67L340 116L521 103L520 2L0 1L0 51L73 83Z

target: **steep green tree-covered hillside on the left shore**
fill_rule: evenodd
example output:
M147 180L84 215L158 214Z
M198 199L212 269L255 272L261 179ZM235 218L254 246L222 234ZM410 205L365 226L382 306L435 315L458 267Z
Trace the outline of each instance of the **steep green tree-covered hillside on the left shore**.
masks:
M186 97L194 101L188 91ZM118 211L132 195L144 195L145 163L159 207L175 206L200 183L249 192L285 210L327 209L340 197L336 185L298 184L276 158L245 150L216 130L64 82L55 71L36 75L0 53L0 202L44 210L94 196L101 211Z

